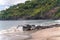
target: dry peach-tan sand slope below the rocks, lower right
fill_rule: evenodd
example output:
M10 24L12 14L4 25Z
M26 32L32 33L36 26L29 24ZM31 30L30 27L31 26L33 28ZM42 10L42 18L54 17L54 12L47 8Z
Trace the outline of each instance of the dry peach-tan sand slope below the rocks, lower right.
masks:
M60 27L39 30L31 35L30 40L60 40Z

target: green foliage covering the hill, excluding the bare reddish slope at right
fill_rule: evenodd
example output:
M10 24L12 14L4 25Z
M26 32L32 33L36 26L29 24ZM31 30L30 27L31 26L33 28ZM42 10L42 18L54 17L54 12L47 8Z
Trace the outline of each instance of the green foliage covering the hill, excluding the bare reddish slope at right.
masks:
M0 19L19 19L23 17L43 16L53 7L60 6L60 0L31 0L20 3L0 12ZM60 10L59 10L60 11ZM54 17L60 17L57 12Z

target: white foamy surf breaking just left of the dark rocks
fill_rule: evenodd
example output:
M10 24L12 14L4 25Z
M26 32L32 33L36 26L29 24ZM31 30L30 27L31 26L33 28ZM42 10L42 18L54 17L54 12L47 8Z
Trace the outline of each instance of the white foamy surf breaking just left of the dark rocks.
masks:
M23 27L11 27L10 29L6 30L1 30L0 34L5 34L5 33L16 33L16 32L23 32Z

